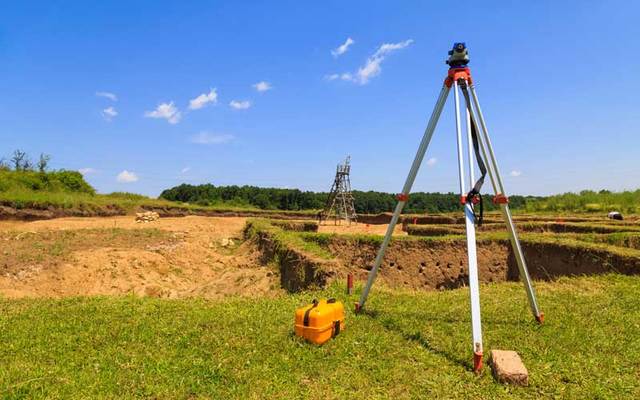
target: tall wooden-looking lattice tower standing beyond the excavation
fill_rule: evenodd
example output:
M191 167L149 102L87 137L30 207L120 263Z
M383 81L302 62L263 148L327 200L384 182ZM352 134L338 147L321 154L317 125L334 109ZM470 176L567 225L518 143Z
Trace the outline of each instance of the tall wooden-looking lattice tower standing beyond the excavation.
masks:
M351 194L351 180L349 173L351 172L351 156L347 156L344 164L338 164L336 168L336 177L333 180L331 192L327 198L324 210L320 213L320 222L333 216L336 223L339 219L349 223L355 222L357 219L356 209L353 205L353 194Z

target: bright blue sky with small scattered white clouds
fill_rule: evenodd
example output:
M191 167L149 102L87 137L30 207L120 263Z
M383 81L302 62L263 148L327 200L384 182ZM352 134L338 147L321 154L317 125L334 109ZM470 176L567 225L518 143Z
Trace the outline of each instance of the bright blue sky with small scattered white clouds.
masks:
M635 189L639 12L614 1L4 2L0 154L48 153L100 192L153 196L182 182L328 190L350 154L354 188L397 192L446 53L466 41L510 193ZM414 191L457 191L453 118L451 96Z

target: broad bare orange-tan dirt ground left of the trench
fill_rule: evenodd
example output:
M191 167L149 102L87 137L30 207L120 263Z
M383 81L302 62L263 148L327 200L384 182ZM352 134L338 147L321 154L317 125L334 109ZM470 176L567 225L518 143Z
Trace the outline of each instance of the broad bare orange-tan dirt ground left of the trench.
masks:
M221 298L280 292L242 243L245 218L61 218L0 222L0 295ZM232 244L228 244L231 239Z

